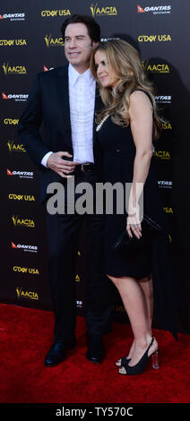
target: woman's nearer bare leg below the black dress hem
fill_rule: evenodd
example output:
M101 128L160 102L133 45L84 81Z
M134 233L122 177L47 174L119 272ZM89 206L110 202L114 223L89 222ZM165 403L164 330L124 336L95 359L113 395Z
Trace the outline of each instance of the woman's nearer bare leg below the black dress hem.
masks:
M109 275L108 278L116 285L131 322L134 332L134 346L129 365L135 365L151 342L151 327L147 317L146 298L138 281L134 278L115 278ZM154 348L158 348L156 341L154 341L151 351Z

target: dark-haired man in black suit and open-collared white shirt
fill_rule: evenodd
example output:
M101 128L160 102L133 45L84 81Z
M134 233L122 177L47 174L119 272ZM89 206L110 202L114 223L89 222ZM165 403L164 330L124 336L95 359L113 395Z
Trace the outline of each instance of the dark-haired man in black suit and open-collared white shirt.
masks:
M91 52L99 43L99 25L93 18L73 15L62 26L65 56L69 64L47 73L38 73L22 113L19 134L30 158L40 171L40 200L48 201L50 183L62 183L65 198L68 177L74 185L98 179L99 146L96 141L94 111L99 105L96 84L89 69ZM45 139L39 128L45 127ZM75 196L75 200L77 199ZM66 208L65 199L65 208ZM104 358L102 337L111 330L112 303L109 281L103 276L103 219L86 214L88 228L85 317L88 334L86 357L94 363ZM76 301L75 259L83 216L65 211L47 211L49 280L55 312L54 343L45 365L65 359L75 345Z

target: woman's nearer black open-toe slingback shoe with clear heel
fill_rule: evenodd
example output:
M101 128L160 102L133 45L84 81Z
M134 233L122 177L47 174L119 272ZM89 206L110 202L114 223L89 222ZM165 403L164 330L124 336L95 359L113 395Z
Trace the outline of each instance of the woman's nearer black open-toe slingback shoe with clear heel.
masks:
M149 347L146 349L146 351L144 352L144 354L142 355L142 358L139 360L139 362L136 365L128 365L128 363L126 362L126 359L123 360L123 365L122 367L125 368L125 373L121 373L119 371L119 374L123 374L123 375L136 375L136 374L142 374L146 368L146 365L148 363L149 358L151 357L151 365L153 368L158 369L160 368L159 365L159 356L158 356L158 349L156 351L154 351L151 356L148 356L149 350L151 348L151 345L153 344L154 338L152 337L151 339L151 343L149 345ZM121 368L122 368L121 367Z

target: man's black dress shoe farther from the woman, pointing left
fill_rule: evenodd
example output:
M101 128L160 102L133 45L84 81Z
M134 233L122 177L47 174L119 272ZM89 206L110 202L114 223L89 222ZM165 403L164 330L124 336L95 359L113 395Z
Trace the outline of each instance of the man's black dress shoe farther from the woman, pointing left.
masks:
M64 342L56 342L53 347L49 349L44 364L47 367L53 367L54 365L61 363L65 360L66 350L68 348L73 348L74 345L74 341L69 346L66 346Z

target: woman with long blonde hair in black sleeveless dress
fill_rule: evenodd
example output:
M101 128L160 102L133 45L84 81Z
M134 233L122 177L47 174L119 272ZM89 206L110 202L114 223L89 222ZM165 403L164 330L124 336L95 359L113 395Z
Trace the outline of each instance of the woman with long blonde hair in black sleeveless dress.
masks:
M105 271L119 291L134 333L129 354L116 365L120 374L141 374L149 357L152 366L159 367L159 345L151 331L153 300L158 324L175 334L168 233L152 159L152 139L159 137L162 122L140 56L127 42L100 42L91 56L91 73L99 82L105 106L97 121L104 182L131 183L127 209L118 214L114 202L105 227ZM144 213L159 223L162 231L132 259L113 251L112 245L124 229L129 236L141 238L142 193Z

